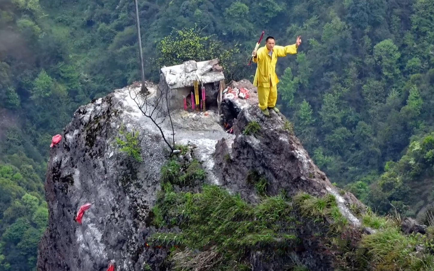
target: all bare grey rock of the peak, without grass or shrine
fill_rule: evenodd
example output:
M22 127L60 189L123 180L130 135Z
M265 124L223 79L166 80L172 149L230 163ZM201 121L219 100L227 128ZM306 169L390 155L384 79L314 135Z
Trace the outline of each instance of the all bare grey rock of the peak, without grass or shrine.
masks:
M257 107L256 89L250 82L231 84L253 88L253 98L233 103L238 112L235 135L220 129L214 114L181 111L172 115L176 142L192 146L193 157L188 159L202 164L206 182L257 202L259 199L246 181L249 170L256 170L266 177L270 195L281 189L289 196L298 191L314 196L334 194L341 212L357 227L360 222L348 206L363 208L362 203L350 193L339 194L299 140L283 129L282 115L271 112L270 117L263 116ZM156 86L148 85L148 89L151 100L156 96ZM166 146L157 127L135 108L129 91L123 88L80 107L64 129L62 141L52 148L45 183L49 228L39 244L38 271L105 271L110 261L115 262L115 270L142 270L145 264L155 267L155 271L166 270L161 262L167 250L145 245L154 230L149 211L160 189L160 169L168 158ZM135 91L140 91L140 86ZM196 123L201 118L203 121ZM256 121L260 130L243 134L251 121ZM139 131L143 162L135 161L116 146L115 138L122 125L127 131ZM161 129L171 137L171 125L164 122ZM88 202L92 206L79 225L74 220L76 212ZM297 253L303 263L312 270L328 270L333 255L312 238L314 228L302 225L298 231L304 250Z

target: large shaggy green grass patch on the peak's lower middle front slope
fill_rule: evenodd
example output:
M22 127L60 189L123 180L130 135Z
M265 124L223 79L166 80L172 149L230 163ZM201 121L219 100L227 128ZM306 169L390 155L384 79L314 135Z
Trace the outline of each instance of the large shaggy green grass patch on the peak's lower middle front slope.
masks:
M179 246L172 257L174 270L240 270L248 266L249 249L285 251L294 244L296 235L288 222L293 220L292 207L281 195L252 205L218 186L205 185L201 193L167 190L157 206L166 224L177 219L181 232L157 232L149 241ZM195 249L200 253L192 254Z

